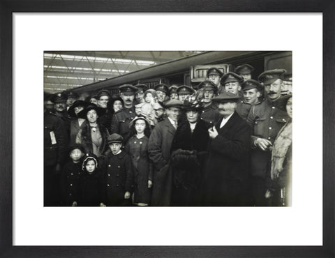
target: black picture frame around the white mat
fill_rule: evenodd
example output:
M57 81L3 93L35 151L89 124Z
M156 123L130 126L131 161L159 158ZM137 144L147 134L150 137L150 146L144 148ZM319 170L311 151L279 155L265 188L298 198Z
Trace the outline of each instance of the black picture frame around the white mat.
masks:
M13 246L14 12L320 12L323 13L322 246ZM335 257L335 1L332 0L3 0L0 2L0 257ZM311 74L311 71L306 71ZM313 75L312 75L313 76ZM313 80L321 78L312 78ZM311 79L311 80L312 80ZM303 86L301 86L302 90ZM312 100L311 100L312 101ZM308 121L306 121L308 123ZM313 135L313 133L312 133ZM313 141L311 136L307 141ZM313 204L311 204L311 207ZM308 233L308 225L306 225ZM305 233L305 234L306 234Z

